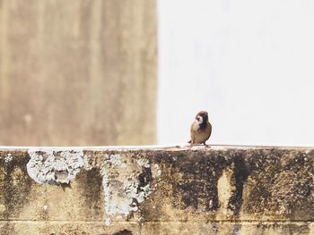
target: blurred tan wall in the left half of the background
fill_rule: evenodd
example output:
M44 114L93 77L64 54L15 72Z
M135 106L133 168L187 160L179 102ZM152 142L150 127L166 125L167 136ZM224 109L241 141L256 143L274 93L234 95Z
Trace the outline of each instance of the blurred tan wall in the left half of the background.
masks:
M156 139L154 0L0 0L0 145Z

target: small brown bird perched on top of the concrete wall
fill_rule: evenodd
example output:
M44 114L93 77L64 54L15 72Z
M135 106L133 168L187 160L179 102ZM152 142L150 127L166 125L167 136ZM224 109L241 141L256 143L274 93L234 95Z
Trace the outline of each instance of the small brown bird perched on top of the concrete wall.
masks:
M194 144L205 144L206 140L212 134L212 125L208 122L208 113L206 111L200 111L196 114L196 120L191 125L191 140L188 143L191 147Z

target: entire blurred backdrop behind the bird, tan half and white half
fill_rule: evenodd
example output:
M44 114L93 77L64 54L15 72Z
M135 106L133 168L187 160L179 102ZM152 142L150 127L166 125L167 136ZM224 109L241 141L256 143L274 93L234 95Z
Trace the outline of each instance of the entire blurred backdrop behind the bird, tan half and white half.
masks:
M202 109L209 143L313 145L313 12L310 0L0 0L0 145L186 143Z

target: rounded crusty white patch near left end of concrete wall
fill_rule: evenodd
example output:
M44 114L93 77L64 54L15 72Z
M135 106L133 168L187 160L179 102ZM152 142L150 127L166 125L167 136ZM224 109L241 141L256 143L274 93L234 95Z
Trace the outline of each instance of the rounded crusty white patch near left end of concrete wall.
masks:
M38 183L69 183L84 165L83 150L29 149L27 172Z

